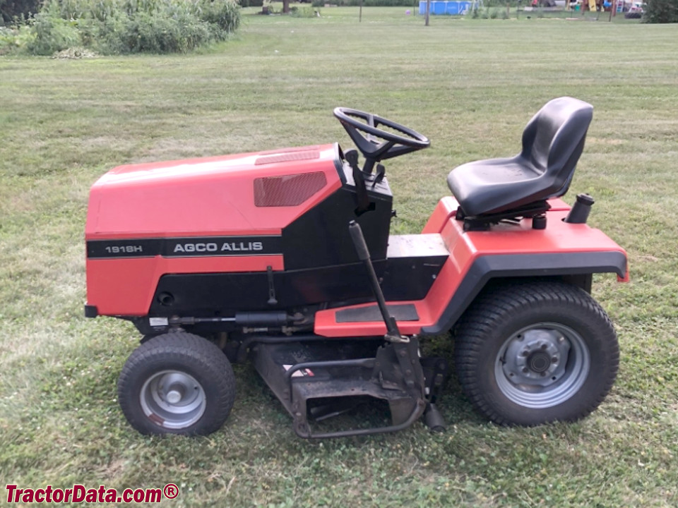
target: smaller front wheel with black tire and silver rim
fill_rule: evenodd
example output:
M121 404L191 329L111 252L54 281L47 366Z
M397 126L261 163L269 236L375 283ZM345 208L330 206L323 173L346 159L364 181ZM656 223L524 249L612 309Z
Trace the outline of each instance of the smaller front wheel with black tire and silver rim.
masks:
M118 399L143 434L209 434L226 420L235 398L229 361L210 341L177 332L133 351L120 374Z

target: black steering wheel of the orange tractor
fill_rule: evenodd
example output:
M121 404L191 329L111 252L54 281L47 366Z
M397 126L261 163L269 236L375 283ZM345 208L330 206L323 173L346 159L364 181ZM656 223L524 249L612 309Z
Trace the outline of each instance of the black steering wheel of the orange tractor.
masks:
M375 162L422 150L431 144L429 138L417 131L366 111L338 107L334 109L334 116L365 157L362 171L367 174L372 172ZM391 130L385 131L379 126Z

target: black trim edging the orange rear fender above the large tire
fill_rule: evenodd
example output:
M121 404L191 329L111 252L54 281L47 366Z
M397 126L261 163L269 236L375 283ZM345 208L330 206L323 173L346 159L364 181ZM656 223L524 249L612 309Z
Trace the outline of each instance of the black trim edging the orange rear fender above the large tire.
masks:
M483 256L473 262L438 322L422 327L421 333L436 335L448 332L490 279L610 272L619 277L626 275L624 253L611 251Z

